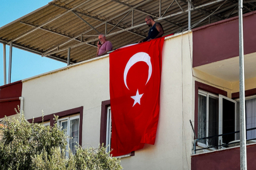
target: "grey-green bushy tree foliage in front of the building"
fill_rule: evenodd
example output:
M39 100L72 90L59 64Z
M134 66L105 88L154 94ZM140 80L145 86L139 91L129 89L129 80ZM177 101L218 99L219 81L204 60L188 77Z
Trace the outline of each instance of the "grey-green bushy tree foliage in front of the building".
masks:
M75 155L68 150L70 156L66 157L66 138L57 123L53 127L29 123L24 114L12 122L6 119L0 126L0 169L122 169L120 160L110 157L101 145L98 149L78 146Z

